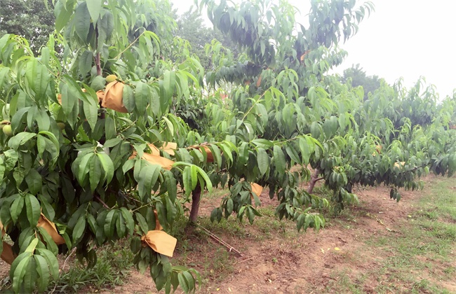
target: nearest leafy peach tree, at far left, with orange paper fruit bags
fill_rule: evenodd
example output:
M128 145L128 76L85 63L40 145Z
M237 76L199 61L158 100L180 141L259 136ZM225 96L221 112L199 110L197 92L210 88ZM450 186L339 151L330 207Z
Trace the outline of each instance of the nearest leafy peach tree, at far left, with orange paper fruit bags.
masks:
M53 9L55 34L39 55L20 36L0 38L0 252L12 288L44 291L58 253L92 266L97 246L130 237L135 265L150 267L159 290L192 291L199 276L170 264L166 232L182 213L177 179L191 171L192 183L211 183L192 160L152 153L188 131L170 109L199 87L202 67L176 58L185 43L172 37L166 1Z

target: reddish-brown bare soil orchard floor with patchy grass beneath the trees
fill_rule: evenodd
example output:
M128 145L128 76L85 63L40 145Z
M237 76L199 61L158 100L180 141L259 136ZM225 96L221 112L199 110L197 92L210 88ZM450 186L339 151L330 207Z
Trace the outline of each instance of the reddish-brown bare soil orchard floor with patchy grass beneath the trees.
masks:
M200 293L456 293L456 178L424 182L424 190L401 190L398 203L388 188L356 188L358 206L327 215L319 232L279 221L267 191L253 225L233 217L210 223L218 191L201 200L199 224L242 255L196 228L178 236L172 262L201 273ZM0 262L0 280L7 270ZM148 272L133 269L121 283L101 292L156 293ZM88 292L100 289L80 293Z

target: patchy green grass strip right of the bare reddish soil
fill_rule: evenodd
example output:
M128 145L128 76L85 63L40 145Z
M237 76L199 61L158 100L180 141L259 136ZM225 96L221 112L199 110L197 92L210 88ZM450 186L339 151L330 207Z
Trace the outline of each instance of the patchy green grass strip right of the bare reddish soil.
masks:
M434 179L428 184L430 193L422 195L416 211L398 225L390 235L366 237L366 248L382 252L379 267L368 269L356 281L346 270L333 272L325 292L364 293L363 279L375 284L375 293L450 293L438 281L453 281L456 268L456 191L454 178ZM362 204L361 204L362 205ZM348 209L337 225L349 228L360 217ZM367 215L365 215L367 216Z

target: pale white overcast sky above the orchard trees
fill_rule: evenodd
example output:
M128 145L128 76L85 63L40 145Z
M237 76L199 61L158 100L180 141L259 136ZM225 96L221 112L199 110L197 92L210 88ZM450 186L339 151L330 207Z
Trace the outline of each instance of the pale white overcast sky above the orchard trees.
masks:
M309 12L309 1L289 0ZM192 0L171 0L179 13ZM362 1L358 1L361 3ZM375 12L361 22L358 34L342 48L349 56L336 71L360 64L368 75L394 83L399 77L410 86L424 76L434 84L441 98L456 88L456 1L452 0L373 0ZM204 13L203 13L204 15ZM208 22L210 24L210 22Z

